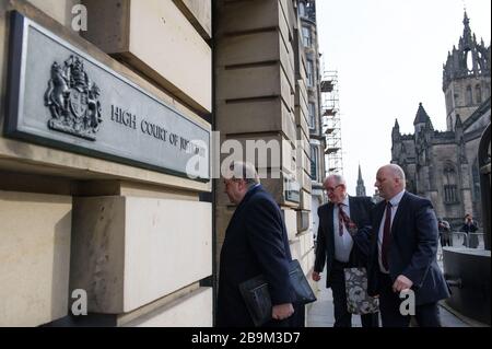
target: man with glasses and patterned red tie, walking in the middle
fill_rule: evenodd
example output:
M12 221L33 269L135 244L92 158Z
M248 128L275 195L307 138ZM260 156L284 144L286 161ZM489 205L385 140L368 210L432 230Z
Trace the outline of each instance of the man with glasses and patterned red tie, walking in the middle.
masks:
M374 203L368 197L349 197L343 177L331 175L324 182L330 200L318 209L319 226L313 280L320 280L327 266L326 287L333 294L335 327L351 327L352 314L347 310L344 268L365 267L368 245L359 245L352 234L371 224ZM363 327L377 327L377 314L362 315Z

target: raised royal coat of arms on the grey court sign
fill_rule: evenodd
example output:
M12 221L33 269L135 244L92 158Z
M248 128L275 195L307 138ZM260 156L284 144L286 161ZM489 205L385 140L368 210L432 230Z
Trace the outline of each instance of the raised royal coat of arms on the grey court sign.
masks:
M45 105L51 113L48 127L94 141L103 123L99 95L79 57L70 56L63 66L55 61L45 93Z

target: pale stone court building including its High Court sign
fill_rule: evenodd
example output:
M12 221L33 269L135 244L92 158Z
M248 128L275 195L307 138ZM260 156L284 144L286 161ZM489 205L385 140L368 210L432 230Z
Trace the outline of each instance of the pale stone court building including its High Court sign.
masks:
M312 271L301 18L297 0L0 0L0 326L212 326L226 140L280 144L253 161Z

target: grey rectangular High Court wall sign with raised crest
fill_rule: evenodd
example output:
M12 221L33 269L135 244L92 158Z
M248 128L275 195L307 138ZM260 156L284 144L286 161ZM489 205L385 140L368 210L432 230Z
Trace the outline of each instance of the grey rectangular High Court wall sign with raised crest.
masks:
M210 179L210 127L17 12L5 136L197 181Z

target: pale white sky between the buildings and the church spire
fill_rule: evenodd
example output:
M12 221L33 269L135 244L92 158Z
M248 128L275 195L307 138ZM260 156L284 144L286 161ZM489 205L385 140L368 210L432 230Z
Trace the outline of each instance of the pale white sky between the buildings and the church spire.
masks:
M338 70L343 174L355 195L359 163L366 194L391 160L391 129L413 132L422 102L436 130L446 129L443 65L470 27L490 45L490 0L318 0L324 70Z

